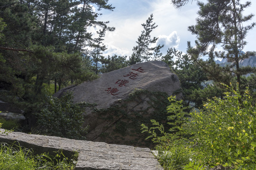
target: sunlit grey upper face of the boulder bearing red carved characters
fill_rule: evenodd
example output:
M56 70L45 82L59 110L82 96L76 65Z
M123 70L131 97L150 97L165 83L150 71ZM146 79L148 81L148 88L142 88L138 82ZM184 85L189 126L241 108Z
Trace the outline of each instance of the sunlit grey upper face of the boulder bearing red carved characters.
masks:
M180 88L178 76L171 73L165 62L149 61L104 73L91 82L63 88L54 96L60 97L64 92L72 91L74 102L97 103L99 108L108 108L126 98L134 89L172 95Z

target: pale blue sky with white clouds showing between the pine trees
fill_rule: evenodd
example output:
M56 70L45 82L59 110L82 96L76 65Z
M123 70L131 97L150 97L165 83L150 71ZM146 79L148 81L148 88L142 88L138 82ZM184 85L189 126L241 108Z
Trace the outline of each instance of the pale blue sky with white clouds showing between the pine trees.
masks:
M241 0L246 1L246 0ZM246 8L244 14L256 13L256 1L251 0L252 5ZM107 55L132 54L133 46L136 45L138 36L141 34L146 19L153 14L154 22L158 25L152 31L152 37L159 37L159 42L164 44L163 53L169 47L175 47L179 51L186 52L187 41L192 42L196 37L188 31L188 26L195 25L199 7L196 1L189 2L186 6L176 9L172 6L171 0L109 0L114 11L101 10L103 14L100 21L109 21L108 26L114 26L114 32L107 32L104 37L104 44L108 50ZM254 17L249 23L256 22ZM256 28L247 34L247 46L244 51L256 51L255 45Z

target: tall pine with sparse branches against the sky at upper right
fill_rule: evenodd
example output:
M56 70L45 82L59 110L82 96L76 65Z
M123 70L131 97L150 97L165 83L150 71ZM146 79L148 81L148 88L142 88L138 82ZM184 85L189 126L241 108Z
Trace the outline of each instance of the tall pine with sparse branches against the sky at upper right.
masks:
M172 0L176 7L187 2L188 0ZM198 2L198 5L200 9L197 24L189 26L189 31L195 34L198 40L196 48L189 43L188 52L201 67L209 72L209 75L214 75L212 77L214 80L222 82L221 77L228 73L228 76L235 75L236 81L240 84L241 75L255 72L253 68L239 67L239 61L251 55L242 53L247 44L245 41L247 32L256 25L252 23L244 26L244 23L254 16L253 14L243 16L244 9L249 7L251 2L241 4L240 0L207 0L206 3ZM218 45L221 45L223 51L215 51ZM206 55L209 61L204 62L200 57ZM212 62L216 57L226 58L233 64L226 68L219 68Z

